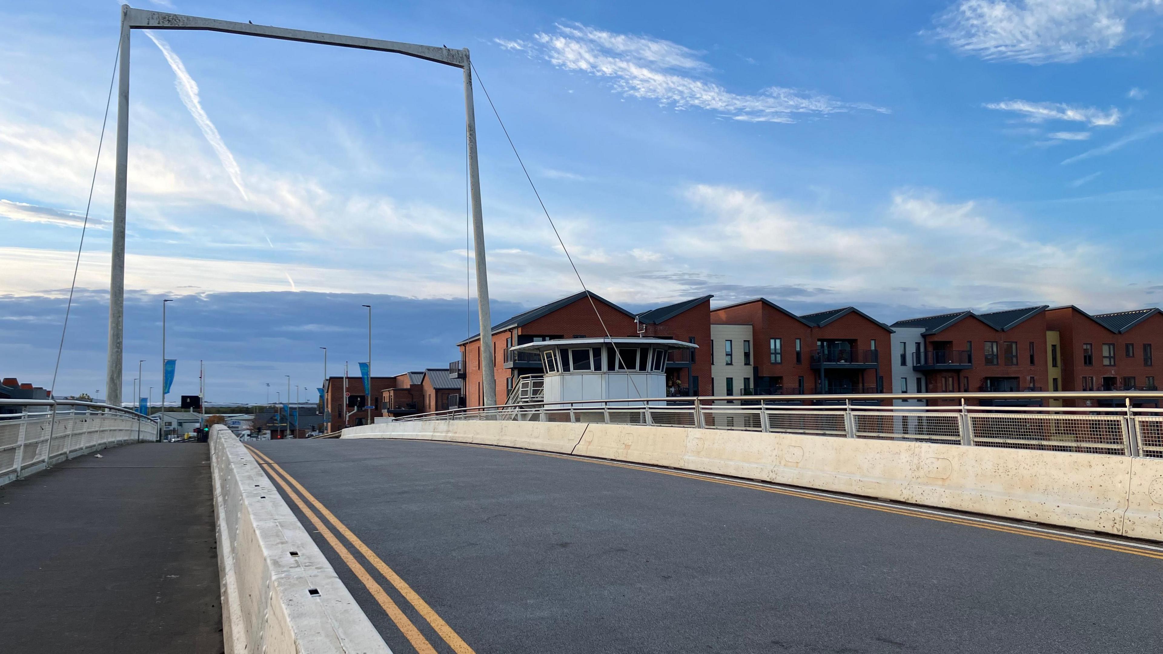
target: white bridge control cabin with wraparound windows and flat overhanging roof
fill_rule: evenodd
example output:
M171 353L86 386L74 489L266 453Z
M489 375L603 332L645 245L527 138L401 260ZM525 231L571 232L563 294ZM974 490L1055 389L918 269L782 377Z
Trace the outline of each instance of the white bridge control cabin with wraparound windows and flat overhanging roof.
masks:
M542 392L528 394L527 399L570 403L664 398L668 356L698 347L673 339L630 336L555 339L516 346L513 351L536 354L545 371Z

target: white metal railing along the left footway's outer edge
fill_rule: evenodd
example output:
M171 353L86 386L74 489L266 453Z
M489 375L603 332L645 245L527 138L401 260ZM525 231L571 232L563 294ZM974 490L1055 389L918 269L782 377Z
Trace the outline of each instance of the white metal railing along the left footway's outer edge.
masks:
M155 440L156 422L120 406L0 399L0 485L94 449Z

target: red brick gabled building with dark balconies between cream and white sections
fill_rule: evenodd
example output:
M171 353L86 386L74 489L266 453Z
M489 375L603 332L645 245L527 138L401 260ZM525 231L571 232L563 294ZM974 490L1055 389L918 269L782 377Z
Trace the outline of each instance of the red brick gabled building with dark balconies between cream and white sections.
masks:
M892 392L880 362L892 329L856 307L795 315L755 298L712 310L711 321L751 326L755 394Z

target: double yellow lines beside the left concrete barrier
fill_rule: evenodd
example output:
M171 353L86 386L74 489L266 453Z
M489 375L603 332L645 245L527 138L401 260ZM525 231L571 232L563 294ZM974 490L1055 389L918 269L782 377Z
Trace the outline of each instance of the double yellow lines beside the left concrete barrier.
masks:
M455 631L452 631L452 627L448 626L448 623L445 623L436 613L436 611L434 611L431 606L428 605L427 602L424 602L419 595L416 595L416 591L412 590L412 587L409 587L402 578L400 578L399 575L395 574L395 570L390 568L387 563L384 563L384 561L380 560L380 557L377 556L376 553L372 552L370 547L364 545L364 542L359 540L358 536L351 533L351 529L349 529L347 525L341 523L340 519L336 518L334 513L328 511L328 509L323 506L321 502L315 499L315 496L307 492L307 489L302 488L302 484L295 481L294 477L288 475L286 470L280 468L278 463L272 461L263 453L250 447L249 445L247 446L247 449L249 449L251 456L254 456L255 460L257 460L259 464L262 464L266 469L266 474L272 479L274 479L276 483L283 486L283 490L287 493L287 497L290 497L291 500L294 502L297 506L299 506L299 510L302 511L304 516L306 516L307 519L311 520L311 524L314 525L316 529L319 529L319 533L322 534L322 536L327 540L328 543L330 543L330 546L335 549L335 553L338 554L341 559L343 559L343 562L348 564L348 568L350 568L351 571L355 573L356 577L358 577L359 581L363 582L368 591L371 592L372 597L376 598L376 602L379 603L380 607L384 609L384 612L387 613L387 616L392 619L393 623L395 623L395 626L400 630L401 633L404 633L405 638L408 639L408 642L411 642L412 646L416 648L416 652L419 652L420 654L436 654L436 649L433 648L431 644L428 642L428 639L424 638L424 635L420 632L419 628L416 628L416 625L414 625L412 620L409 620L408 617L404 614L404 611L401 611L400 607L395 604L395 602L391 598L391 596L388 596L387 591L385 591L384 588L379 585L378 582L376 582L376 580L371 576L371 574L368 573L368 570L363 567L362 563L359 563L359 561L355 557L355 555L351 554L351 552L347 548L347 546L344 546L340 541L340 539L336 538L335 533L331 532L331 529L323 524L323 520L321 520L319 516L315 514L315 511L312 511L312 509L307 506L307 503L311 503L315 507L315 510L319 511L319 513L322 514L322 517L326 518L327 521L330 523L333 527L335 527L336 532L342 534L343 538L345 538L348 542L350 542L351 546L356 548L356 550L358 550L361 554L364 555L364 557L372 564L373 568L379 570L379 574L381 574L384 578L386 578L388 583L391 583L395 588L395 590L399 591L399 593L404 596L404 598L407 599L409 604L412 604L413 607L415 607L415 610L420 613L421 617L428 620L428 624L431 625L434 630L436 630L436 633L438 633L440 637L444 639L444 642L447 642L449 647L451 647L452 651L456 652L456 654L476 654L472 651L472 648L469 647L469 645L464 642L464 640L462 640L461 637L457 635ZM292 486L294 486L294 489L292 489ZM300 495L302 497L300 497ZM306 498L307 502L304 502L304 498Z

